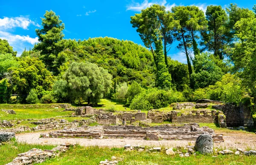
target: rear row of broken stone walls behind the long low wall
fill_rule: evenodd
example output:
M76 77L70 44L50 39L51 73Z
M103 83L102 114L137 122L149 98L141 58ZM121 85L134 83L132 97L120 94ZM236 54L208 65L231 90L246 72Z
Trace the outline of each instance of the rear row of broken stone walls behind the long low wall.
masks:
M183 103L183 104L173 104L173 106L180 107L205 107L208 104L193 104L193 103ZM164 121L169 121L172 123L217 123L218 113L216 110L205 110L198 109L192 110L190 113L180 113L177 111L163 112L159 110L149 110L148 114L141 113L140 110L135 112L118 112L114 115L112 112L107 112L102 109L95 109L92 107L78 107L75 109L77 116L92 116L96 115L96 122L99 124L119 124L123 120L127 121L129 124L140 121L143 123L161 123Z

